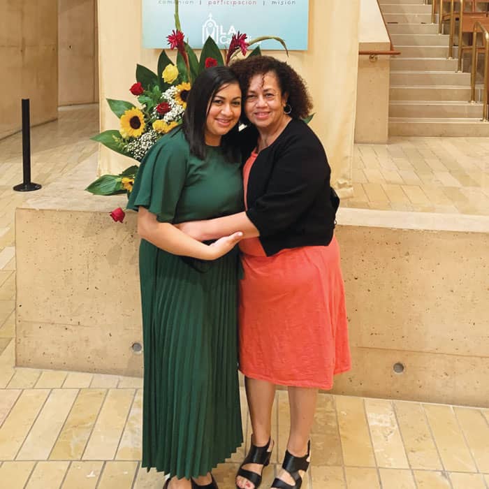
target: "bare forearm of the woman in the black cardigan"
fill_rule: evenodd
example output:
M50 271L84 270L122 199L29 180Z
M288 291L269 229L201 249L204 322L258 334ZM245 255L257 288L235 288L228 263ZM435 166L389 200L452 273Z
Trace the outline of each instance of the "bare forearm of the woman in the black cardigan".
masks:
M229 216L207 219L207 221L188 221L176 224L175 227L195 240L216 240L222 236L240 231L242 238L255 238L260 232L248 219L246 212L238 212Z

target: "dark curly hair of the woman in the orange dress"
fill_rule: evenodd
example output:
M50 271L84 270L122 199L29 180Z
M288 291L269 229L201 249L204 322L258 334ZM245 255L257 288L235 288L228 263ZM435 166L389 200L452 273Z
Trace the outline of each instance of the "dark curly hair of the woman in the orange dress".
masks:
M233 70L240 82L243 101L246 98L251 78L255 75L265 75L265 73L271 71L277 76L282 94L289 94L287 103L292 108L289 115L294 119L304 119L310 114L312 98L309 95L305 81L286 62L271 56L251 56L235 61L231 64L231 70ZM241 119L245 124L249 124L245 112L242 112Z

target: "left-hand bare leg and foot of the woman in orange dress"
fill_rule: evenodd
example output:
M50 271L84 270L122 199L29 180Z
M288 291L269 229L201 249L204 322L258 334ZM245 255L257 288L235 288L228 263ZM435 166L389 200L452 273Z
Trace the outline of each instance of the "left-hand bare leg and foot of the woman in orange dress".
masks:
M258 379L245 377L246 395L248 401L249 416L253 435L251 443L256 446L268 444L272 433L272 406L275 399L275 384ZM273 445L270 444L269 450ZM261 474L263 466L260 464L247 464L244 469ZM243 477L236 478L236 485L242 489L254 488L253 483Z

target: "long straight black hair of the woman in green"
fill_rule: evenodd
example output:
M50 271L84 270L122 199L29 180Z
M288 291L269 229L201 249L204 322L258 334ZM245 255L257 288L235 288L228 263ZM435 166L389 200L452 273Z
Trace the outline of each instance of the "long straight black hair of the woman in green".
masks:
M205 159L205 123L210 110L210 101L223 85L237 83L238 78L226 66L214 66L200 73L187 97L187 109L183 117L183 131L191 154ZM221 139L221 146L231 151L238 124ZM228 155L230 156L230 155Z

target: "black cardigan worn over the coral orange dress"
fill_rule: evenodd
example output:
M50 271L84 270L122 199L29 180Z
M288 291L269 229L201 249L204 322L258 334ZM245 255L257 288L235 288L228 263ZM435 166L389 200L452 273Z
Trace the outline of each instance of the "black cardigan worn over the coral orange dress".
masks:
M258 132L249 126L240 137L246 160ZM286 248L329 245L337 207L330 175L321 141L297 119L258 154L249 173L246 214L260 231L267 256Z

